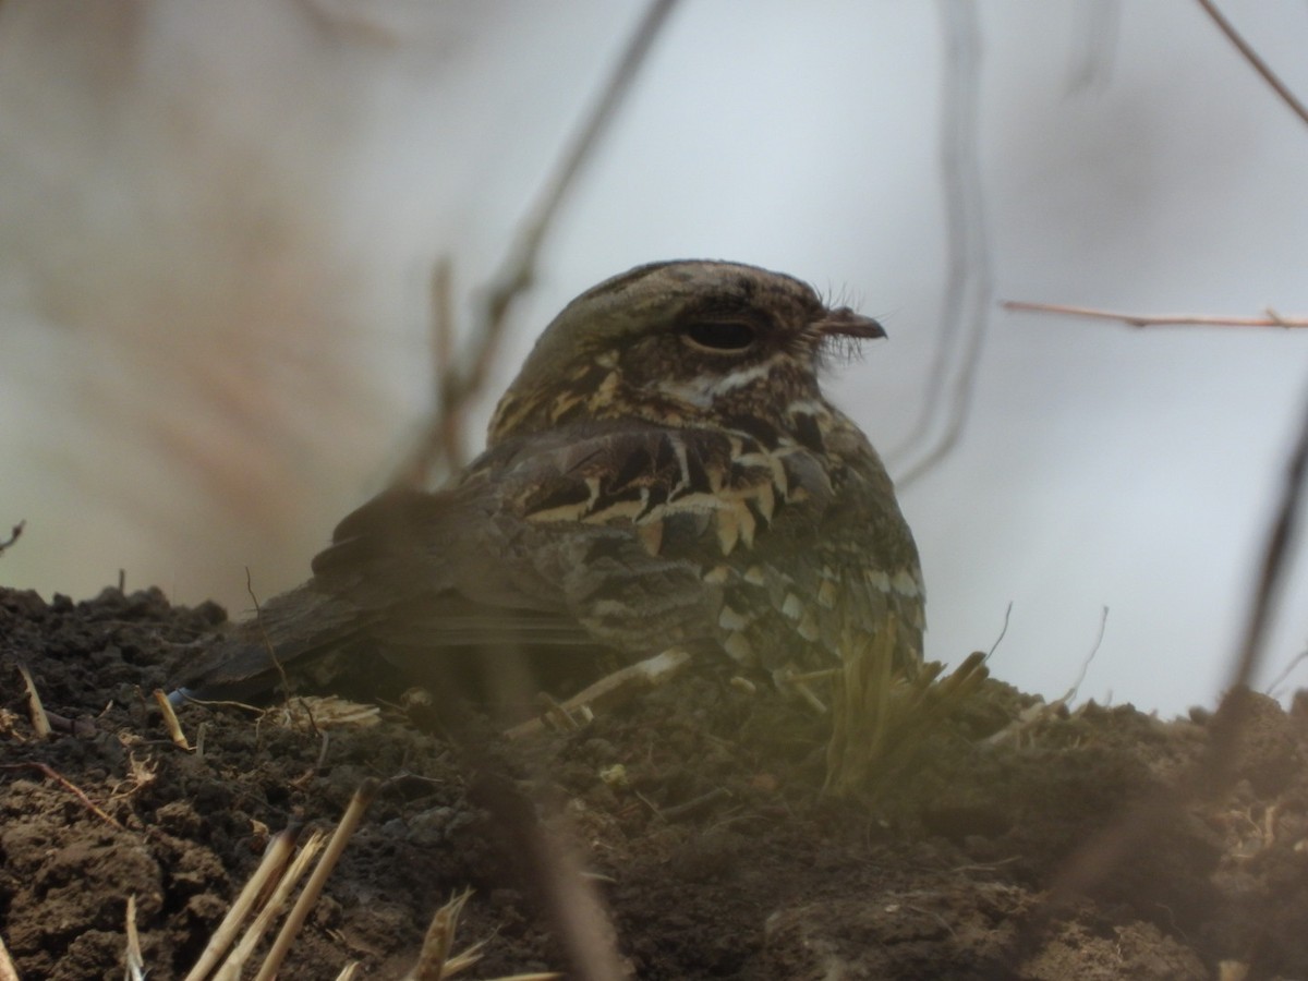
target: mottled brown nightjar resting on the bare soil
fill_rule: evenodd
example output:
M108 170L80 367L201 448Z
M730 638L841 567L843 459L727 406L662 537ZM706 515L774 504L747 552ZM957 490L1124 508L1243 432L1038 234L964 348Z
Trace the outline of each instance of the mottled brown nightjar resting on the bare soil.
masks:
M378 657L438 680L505 650L548 667L565 651L634 663L676 647L846 679L880 651L876 671L913 678L917 547L880 458L820 385L884 336L742 263L600 283L545 327L476 459L439 489L385 490L345 517L311 578L186 664L178 692L246 697Z

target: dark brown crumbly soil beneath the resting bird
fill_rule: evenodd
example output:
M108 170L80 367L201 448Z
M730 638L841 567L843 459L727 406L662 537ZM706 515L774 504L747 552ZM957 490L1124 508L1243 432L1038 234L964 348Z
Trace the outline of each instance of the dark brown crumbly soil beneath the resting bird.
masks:
M188 705L203 752L186 752L150 692L222 619L158 593L0 591L0 937L20 977L123 977L129 896L148 976L182 977L269 833L330 827L369 777L381 789L283 977L351 960L399 977L468 887L456 946L485 948L467 976L569 972L488 786L570 840L632 977L1308 977L1303 698L1288 714L1256 700L1239 781L1122 837L1122 815L1165 799L1211 722L1091 704L991 739L1035 702L991 681L875 795L838 802L820 795L823 721L712 672L472 753L399 709L324 742L280 709ZM17 663L55 715L48 738ZM1096 862L1096 841L1125 859Z

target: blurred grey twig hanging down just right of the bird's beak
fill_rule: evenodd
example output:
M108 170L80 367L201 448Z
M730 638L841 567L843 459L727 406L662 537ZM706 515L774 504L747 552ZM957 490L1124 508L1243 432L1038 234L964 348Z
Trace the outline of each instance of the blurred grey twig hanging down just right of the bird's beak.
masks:
M994 293L977 149L981 89L977 12L963 0L942 0L940 13L946 37L940 162L948 229L948 277L923 409L908 438L891 456L903 459L918 443L926 443L926 449L897 476L900 487L908 487L934 468L963 436ZM959 335L964 334L960 344ZM946 383L951 375L947 392ZM927 434L937 428L942 415L943 430L931 445Z

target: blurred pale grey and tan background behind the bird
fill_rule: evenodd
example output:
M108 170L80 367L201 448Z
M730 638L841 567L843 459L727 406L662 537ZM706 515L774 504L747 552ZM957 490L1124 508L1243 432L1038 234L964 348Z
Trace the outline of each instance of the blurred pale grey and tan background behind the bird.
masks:
M1308 95L1308 7L1222 7ZM421 438L434 266L462 351L647 9L0 0L0 526L26 521L0 582L81 598L123 570L238 615L246 568L262 598L303 579ZM606 276L790 272L889 332L829 390L909 477L929 655L989 649L1011 604L991 668L1057 697L1108 607L1082 698L1213 704L1308 332L998 301L1304 315L1308 126L1182 0L681 0L650 41L470 445ZM1299 562L1264 684L1308 646L1305 585Z

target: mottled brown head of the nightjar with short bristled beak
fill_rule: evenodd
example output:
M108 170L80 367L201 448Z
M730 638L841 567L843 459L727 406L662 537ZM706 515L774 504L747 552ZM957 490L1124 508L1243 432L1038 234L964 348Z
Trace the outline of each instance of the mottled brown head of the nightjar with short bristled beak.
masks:
M585 419L787 430L827 407L824 358L882 337L804 283L753 266L641 266L573 300L490 421L489 443Z

